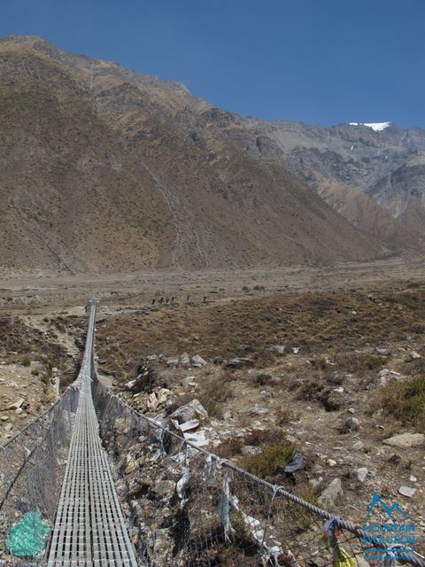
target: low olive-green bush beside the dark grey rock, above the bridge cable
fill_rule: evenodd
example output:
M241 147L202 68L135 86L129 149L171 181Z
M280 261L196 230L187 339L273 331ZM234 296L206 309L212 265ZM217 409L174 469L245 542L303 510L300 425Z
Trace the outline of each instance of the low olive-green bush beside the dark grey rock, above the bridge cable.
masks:
M257 477L267 478L279 474L281 465L290 461L296 445L283 439L261 448L262 453L243 456L239 464Z

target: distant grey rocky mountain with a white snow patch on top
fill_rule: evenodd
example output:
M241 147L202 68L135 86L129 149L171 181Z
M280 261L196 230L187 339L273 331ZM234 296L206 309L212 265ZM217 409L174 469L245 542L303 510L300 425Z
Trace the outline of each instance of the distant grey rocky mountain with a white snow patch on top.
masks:
M328 180L327 202L332 205L345 200L345 205L336 205L336 210L349 221L363 208L366 216L355 224L368 235L380 236L390 247L423 248L425 130L399 130L391 123L378 125L379 128L374 124L324 128L255 119L244 119L243 126L242 140L240 128L230 128L228 136L242 142L253 156L279 159L321 195L319 188L323 180ZM321 183L317 181L318 174ZM336 194L332 197L333 189ZM374 199L382 213L376 206L368 211L367 198ZM370 214L375 221L367 218ZM384 233L383 226L387 227Z

